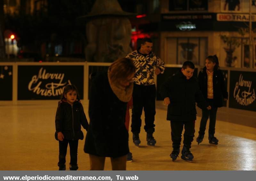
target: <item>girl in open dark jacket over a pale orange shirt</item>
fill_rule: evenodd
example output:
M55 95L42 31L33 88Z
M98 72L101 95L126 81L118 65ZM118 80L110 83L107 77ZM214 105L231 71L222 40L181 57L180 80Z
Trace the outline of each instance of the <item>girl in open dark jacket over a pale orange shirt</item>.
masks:
M223 99L228 100L228 92L216 55L206 58L205 67L198 74L198 81L200 90L212 109L202 109L198 105L202 109L202 119L196 141L198 144L203 141L206 123L210 117L208 140L209 143L217 145L219 140L214 137L217 109L223 106Z

